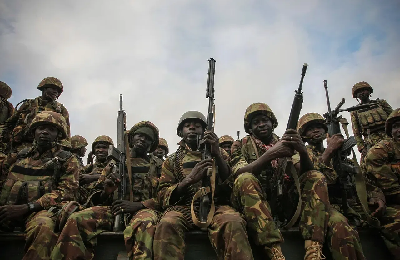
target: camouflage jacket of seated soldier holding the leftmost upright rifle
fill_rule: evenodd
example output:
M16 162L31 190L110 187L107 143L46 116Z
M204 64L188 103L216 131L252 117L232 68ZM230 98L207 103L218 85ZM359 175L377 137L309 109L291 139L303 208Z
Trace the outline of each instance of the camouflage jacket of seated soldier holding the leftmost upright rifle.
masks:
M131 168L132 168L132 190L133 190L133 201L141 202L146 208L152 210L160 210L160 206L157 202L157 188L158 181L160 180L162 160L154 156L153 154L142 157L131 157ZM112 173L114 169L114 161L109 162L102 171L102 174L90 191L94 194L104 190L104 181L106 177ZM126 183L129 185L129 177L126 177ZM126 200L129 200L130 189L126 188ZM94 206L96 201L92 200ZM104 204L104 203L103 203ZM106 204L112 204L112 199L108 200Z

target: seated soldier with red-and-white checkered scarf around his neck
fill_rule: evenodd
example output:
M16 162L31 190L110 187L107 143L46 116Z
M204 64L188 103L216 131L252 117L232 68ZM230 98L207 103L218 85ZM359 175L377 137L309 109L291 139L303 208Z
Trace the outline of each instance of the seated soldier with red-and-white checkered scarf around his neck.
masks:
M313 170L314 165L298 132L286 130L279 139L274 134L277 126L278 121L268 105L254 103L246 109L244 130L249 135L232 145L231 166L236 178L232 203L246 216L249 234L254 242L264 246L270 258L284 259L280 249L284 240L273 221L268 198L272 196L270 185L276 178L278 159L292 157L295 149L302 162L299 169L302 199L299 227L305 240L304 259L323 259L322 245L328 228L330 207L326 179L322 173ZM297 190L294 192L294 183L288 176L284 181L284 194L288 194L291 204L292 199L300 194L297 194ZM288 207L282 205L281 208ZM292 205L289 208L293 208Z

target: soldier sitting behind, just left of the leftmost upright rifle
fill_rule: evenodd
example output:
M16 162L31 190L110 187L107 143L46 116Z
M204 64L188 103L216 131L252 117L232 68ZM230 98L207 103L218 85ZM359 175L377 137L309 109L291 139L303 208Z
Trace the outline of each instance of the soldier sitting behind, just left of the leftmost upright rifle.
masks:
M107 159L108 146L110 145L114 145L110 136L98 136L92 143L92 151L89 153L91 163L82 167L79 175L78 201L81 204L85 204L90 190L98 182L103 169L112 162L112 159ZM92 154L96 156L94 163Z

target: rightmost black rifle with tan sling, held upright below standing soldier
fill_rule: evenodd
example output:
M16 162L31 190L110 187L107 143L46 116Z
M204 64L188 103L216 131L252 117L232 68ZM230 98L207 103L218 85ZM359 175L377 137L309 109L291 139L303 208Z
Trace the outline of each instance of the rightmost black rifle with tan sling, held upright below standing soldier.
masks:
M328 103L328 112L324 114L326 119L326 124L328 126L329 136L333 136L334 134L340 134L340 120L342 116L338 116L340 112L344 111L355 111L359 109L364 109L370 107L369 104L364 104L360 106L352 106L350 108L340 109L346 100L342 98L342 101L336 106L334 110L330 108L330 100L328 94L328 84L326 80L324 80L324 88L326 94L326 102ZM348 191L349 191L349 179L354 176L354 174L360 174L358 166L354 166L348 163L347 156L349 156L352 152L352 148L357 144L354 136L349 136L343 143L342 148L340 150L335 151L333 154L333 168L339 174L339 186L342 197L342 210L344 212L344 216L346 218L349 217L349 209L350 206L348 204ZM348 218L349 219L349 218ZM349 219L350 220L350 219ZM353 222L357 222L355 218L352 218ZM357 225L359 225L357 223Z

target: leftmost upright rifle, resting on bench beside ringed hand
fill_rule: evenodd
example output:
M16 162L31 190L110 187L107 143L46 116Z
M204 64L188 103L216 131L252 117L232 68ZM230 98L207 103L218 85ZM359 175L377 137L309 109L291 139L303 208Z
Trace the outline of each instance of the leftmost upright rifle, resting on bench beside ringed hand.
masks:
M125 111L122 108L122 94L120 94L120 110L118 111L118 122L117 122L117 148L113 145L108 146L108 158L111 158L116 162L114 171L120 175L120 187L118 188L118 200L124 200L126 197L126 120ZM122 213L123 214L123 213ZM124 218L122 214L115 216L113 231L124 230Z

